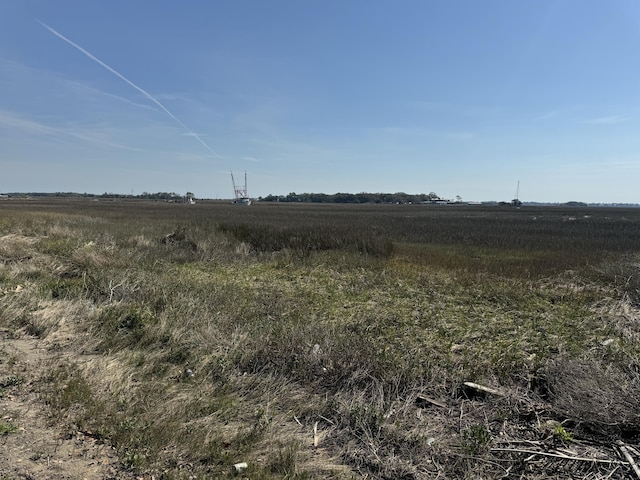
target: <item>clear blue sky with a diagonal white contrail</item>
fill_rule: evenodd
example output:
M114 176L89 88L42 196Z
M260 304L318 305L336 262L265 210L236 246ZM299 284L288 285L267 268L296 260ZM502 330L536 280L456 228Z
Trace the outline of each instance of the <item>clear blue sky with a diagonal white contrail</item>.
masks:
M5 0L0 191L640 202L636 0Z

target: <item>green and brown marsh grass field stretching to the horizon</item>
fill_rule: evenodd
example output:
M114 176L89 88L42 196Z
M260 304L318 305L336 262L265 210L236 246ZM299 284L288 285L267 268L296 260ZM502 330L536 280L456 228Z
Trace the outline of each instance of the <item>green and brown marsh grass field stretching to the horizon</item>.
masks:
M56 355L0 350L0 397L113 478L625 478L639 247L638 210L9 200L0 329Z

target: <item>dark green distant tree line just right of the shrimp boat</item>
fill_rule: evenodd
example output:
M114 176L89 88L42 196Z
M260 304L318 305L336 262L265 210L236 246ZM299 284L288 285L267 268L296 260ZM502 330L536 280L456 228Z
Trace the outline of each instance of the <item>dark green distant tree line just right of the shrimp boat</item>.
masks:
M267 195L259 197L262 202L303 202L303 203L421 203L441 200L431 193L295 193L288 195Z

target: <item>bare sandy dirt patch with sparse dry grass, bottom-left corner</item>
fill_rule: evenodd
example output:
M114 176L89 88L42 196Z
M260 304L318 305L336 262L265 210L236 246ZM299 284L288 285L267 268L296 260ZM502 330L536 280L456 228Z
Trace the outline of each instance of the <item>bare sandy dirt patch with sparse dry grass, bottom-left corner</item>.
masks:
M46 367L62 357L33 337L0 332L0 419L17 427L0 436L0 478L129 479L112 448L88 432L63 431L49 421L39 394Z

